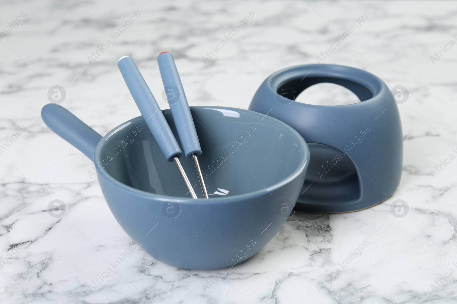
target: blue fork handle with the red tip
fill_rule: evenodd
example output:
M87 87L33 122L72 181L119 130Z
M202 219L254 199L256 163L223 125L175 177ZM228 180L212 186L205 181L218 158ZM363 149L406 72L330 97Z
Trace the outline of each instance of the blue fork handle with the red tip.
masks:
M186 158L190 158L194 153L200 156L202 148L173 56L169 52L162 52L157 57L157 62L184 155Z

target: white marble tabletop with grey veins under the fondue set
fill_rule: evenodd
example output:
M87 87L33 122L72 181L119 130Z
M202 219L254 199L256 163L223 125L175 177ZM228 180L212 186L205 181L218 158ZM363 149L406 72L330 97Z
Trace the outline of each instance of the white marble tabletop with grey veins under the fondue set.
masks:
M455 303L457 160L438 175L431 170L457 155L457 46L438 61L430 57L457 42L456 2L35 1L0 6L0 30L13 22L0 41L0 145L7 144L0 155L0 303ZM137 11L133 27L110 38ZM255 16L247 28L205 65L206 52L250 12ZM409 99L399 104L404 170L394 195L354 213L297 212L257 255L206 292L203 285L218 270L174 268L139 248L94 283L132 241L88 174L90 161L38 115L49 88L62 86L61 104L105 134L139 115L117 59L134 57L160 96L155 57L167 50L191 105L248 108L266 75L316 62L364 12L369 17L362 26L324 62L408 88ZM343 104L354 98L323 84L299 100ZM390 212L398 199L409 205L402 218ZM53 200L64 202L64 216L50 216Z

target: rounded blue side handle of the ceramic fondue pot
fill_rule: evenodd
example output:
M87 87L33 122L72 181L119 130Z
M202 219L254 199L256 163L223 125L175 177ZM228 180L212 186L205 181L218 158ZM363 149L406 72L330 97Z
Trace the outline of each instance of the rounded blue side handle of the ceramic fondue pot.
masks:
M41 117L55 134L72 144L90 160L94 159L95 148L102 137L94 129L55 103L45 105Z

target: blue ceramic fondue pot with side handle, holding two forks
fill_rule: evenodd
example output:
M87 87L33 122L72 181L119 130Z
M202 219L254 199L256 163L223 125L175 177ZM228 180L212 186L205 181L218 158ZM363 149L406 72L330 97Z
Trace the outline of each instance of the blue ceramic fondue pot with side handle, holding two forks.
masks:
M170 110L163 113L177 139ZM260 113L223 107L191 107L191 113L209 200L189 196L142 117L103 138L56 104L46 105L42 117L94 160L110 210L151 256L181 268L231 267L264 247L286 221L306 175L308 146L287 124ZM182 165L194 173L191 159L182 158ZM189 179L198 185L195 173Z

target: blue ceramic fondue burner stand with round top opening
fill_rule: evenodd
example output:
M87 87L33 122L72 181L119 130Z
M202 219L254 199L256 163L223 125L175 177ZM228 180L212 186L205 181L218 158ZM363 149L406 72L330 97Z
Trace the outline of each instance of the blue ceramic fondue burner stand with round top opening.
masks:
M341 85L361 102L319 106L294 101L321 82ZM330 64L288 67L260 85L249 109L285 122L309 145L297 209L356 211L385 201L397 189L403 159L399 111L387 85L371 73Z

